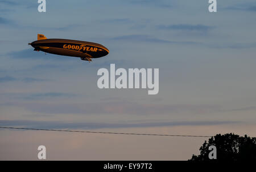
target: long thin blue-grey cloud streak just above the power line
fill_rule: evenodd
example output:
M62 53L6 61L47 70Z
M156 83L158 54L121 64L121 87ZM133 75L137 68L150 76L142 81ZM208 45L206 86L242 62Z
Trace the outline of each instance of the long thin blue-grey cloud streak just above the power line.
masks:
M181 122L149 122L149 123L89 123L89 122L53 122L53 121L26 121L0 120L0 126L30 127L42 129L84 129L96 130L100 128L130 128L130 127L164 127L164 126L211 126L220 124L240 123L237 121L181 121Z

